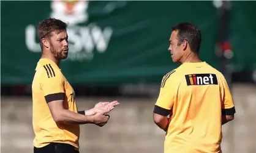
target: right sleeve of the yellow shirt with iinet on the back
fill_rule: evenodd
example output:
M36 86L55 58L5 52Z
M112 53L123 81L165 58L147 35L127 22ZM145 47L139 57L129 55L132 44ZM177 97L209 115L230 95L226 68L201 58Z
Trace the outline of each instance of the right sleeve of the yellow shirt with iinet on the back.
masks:
M225 78L222 79L222 88L222 115L234 115L236 113L235 105Z

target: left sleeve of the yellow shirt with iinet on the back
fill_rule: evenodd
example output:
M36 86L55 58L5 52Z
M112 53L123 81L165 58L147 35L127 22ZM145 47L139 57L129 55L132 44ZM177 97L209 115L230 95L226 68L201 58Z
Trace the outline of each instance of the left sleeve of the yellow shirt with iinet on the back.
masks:
M170 115L175 99L175 91L169 77L168 74L163 77L159 96L154 106L154 113L162 116Z

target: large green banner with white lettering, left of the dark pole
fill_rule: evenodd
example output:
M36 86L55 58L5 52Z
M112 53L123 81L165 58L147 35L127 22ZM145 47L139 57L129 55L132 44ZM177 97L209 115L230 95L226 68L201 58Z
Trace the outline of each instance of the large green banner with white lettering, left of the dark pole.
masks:
M31 84L41 55L36 26L49 17L69 22L61 69L71 84L159 84L178 66L168 39L171 26L183 21L201 29L200 57L217 66L211 1L2 1L2 85Z

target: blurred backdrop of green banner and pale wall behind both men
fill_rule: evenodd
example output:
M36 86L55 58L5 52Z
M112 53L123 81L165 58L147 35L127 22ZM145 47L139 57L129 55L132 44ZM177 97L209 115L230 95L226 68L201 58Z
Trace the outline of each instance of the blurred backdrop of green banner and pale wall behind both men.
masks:
M223 126L223 152L256 152L255 13L254 1L1 1L1 151L32 153L36 26L52 17L69 22L61 69L78 108L121 102L106 126L81 126L80 152L164 151L152 110L162 77L179 66L167 48L171 26L180 22L200 28L200 58L232 90L236 115Z

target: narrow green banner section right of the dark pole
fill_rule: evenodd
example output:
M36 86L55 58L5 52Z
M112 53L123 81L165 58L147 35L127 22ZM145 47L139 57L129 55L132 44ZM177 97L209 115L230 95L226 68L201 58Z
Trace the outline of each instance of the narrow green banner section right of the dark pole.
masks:
M256 1L232 1L230 41L236 71L256 69Z

